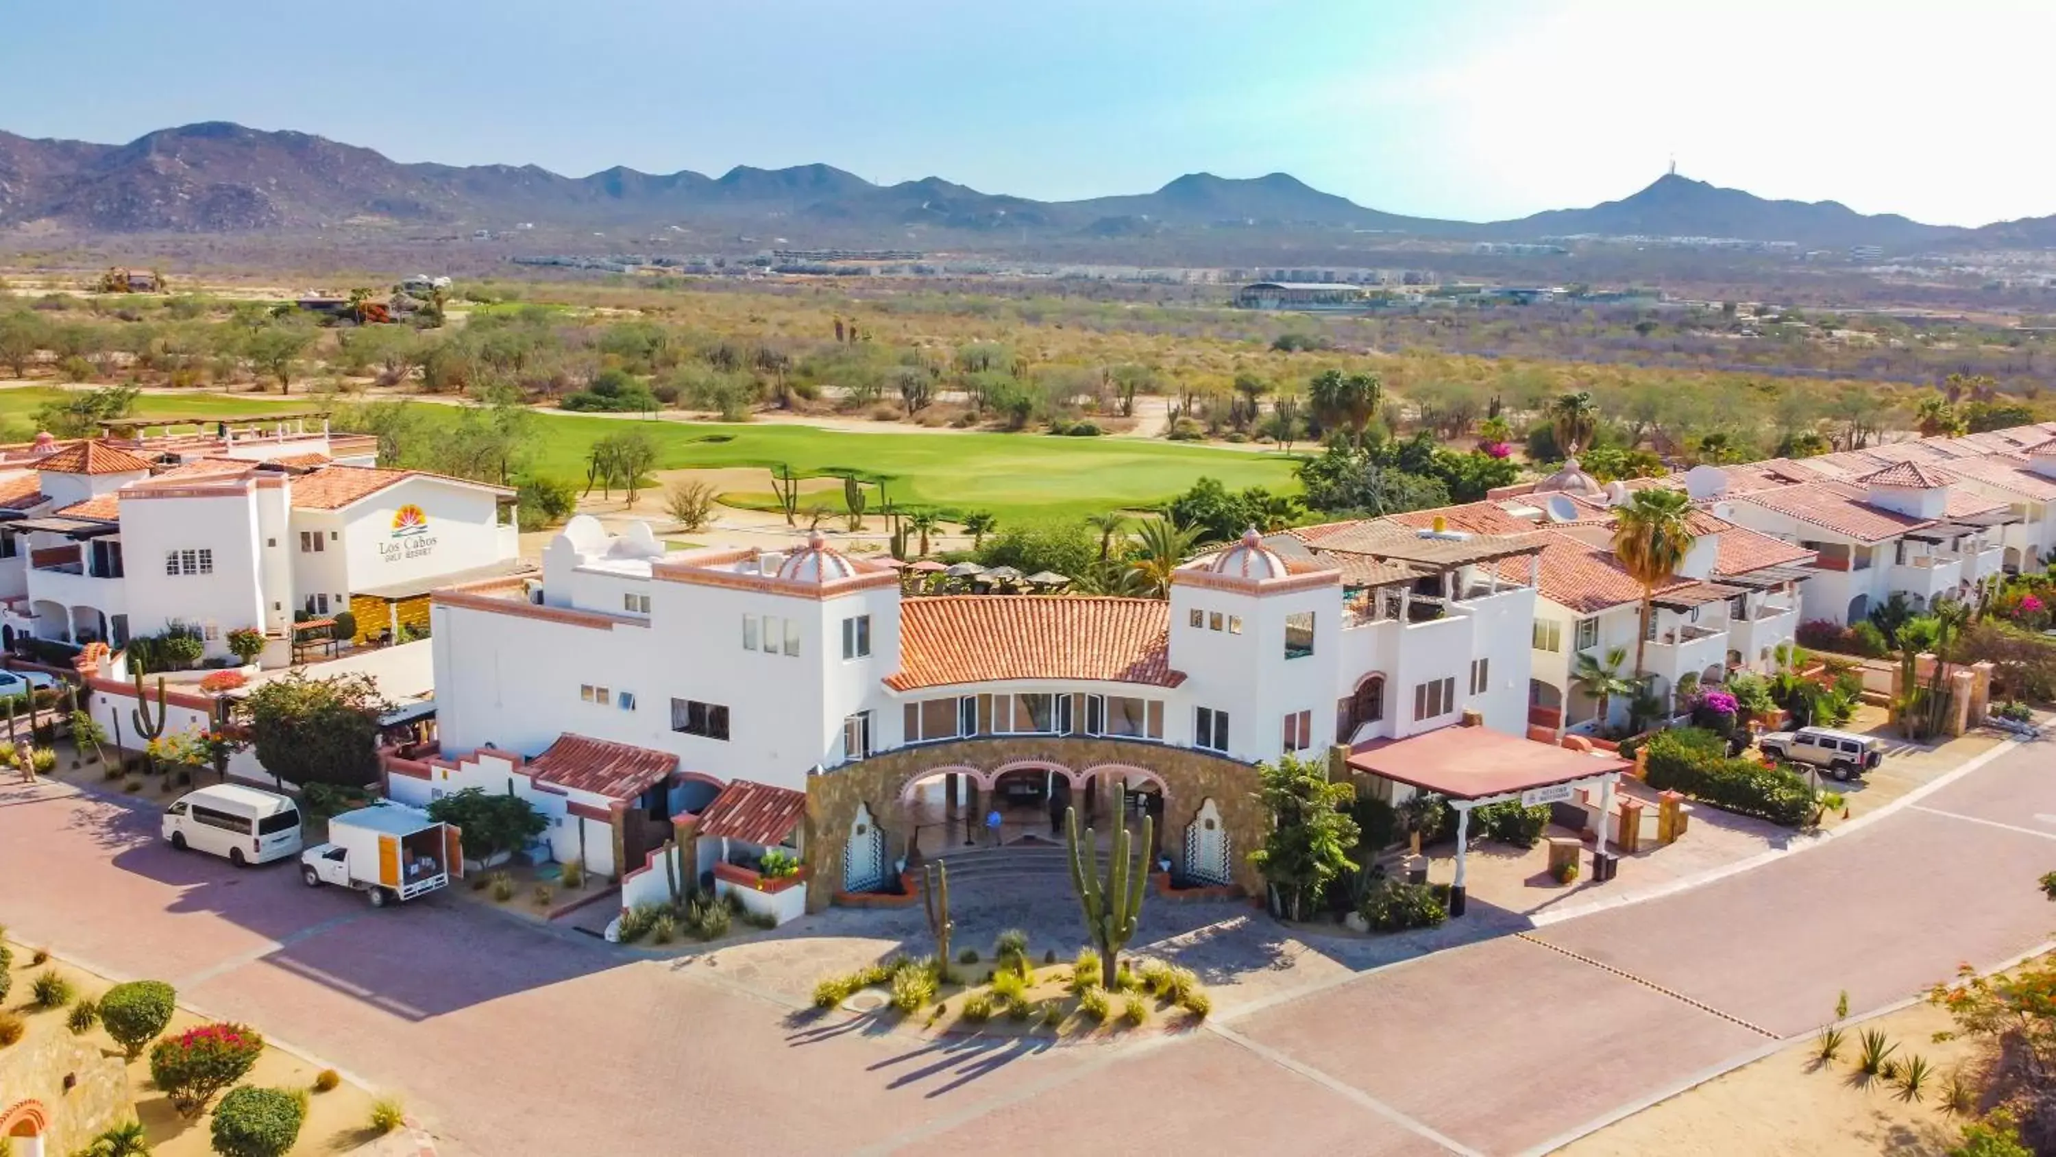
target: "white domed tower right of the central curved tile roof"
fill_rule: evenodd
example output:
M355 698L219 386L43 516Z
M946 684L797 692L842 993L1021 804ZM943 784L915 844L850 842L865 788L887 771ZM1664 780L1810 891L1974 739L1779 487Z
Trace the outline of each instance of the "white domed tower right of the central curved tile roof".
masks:
M1170 664L1186 676L1184 742L1250 762L1318 756L1334 742L1341 645L1343 573L1304 549L1250 528L1178 567Z

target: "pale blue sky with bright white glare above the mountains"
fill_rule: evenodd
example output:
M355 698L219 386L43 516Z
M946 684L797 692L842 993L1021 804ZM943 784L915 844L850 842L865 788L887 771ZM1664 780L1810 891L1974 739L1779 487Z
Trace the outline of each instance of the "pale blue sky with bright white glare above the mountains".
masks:
M0 0L0 129L204 119L584 175L824 160L1030 197L1190 171L1503 218L1680 173L2056 214L2056 2Z

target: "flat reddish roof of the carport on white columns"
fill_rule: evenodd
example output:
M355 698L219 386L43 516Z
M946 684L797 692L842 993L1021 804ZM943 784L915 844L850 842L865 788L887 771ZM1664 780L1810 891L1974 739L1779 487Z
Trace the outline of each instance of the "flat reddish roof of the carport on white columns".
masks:
M1630 767L1614 754L1581 754L1491 727L1437 727L1404 740L1371 740L1349 767L1449 799L1484 799L1552 787Z

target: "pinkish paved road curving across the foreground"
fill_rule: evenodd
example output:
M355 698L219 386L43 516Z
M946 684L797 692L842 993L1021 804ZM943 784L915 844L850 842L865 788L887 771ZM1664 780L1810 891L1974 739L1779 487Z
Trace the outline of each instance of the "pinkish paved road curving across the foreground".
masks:
M0 921L162 976L372 1083L446 1153L1521 1153L1711 1067L2040 943L2056 746L1690 892L1349 976L1131 1046L812 1023L718 966L623 962L454 902L370 912L150 816L0 791Z

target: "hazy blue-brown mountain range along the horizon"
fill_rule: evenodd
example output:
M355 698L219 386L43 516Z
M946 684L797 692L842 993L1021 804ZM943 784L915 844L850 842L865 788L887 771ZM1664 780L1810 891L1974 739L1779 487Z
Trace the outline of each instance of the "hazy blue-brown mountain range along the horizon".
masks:
M1441 238L1729 236L1801 247L2056 245L2056 218L1978 230L1836 201L1772 201L1665 175L1618 201L1505 222L1408 218L1322 193L1285 173L1190 173L1153 193L1034 201L940 177L876 185L831 164L563 177L535 164L401 164L370 148L298 132L210 121L130 144L31 140L0 132L0 228L82 232L325 230L360 224L450 228L666 226L777 228L903 240L909 228L1147 236L1192 228L1349 228Z

